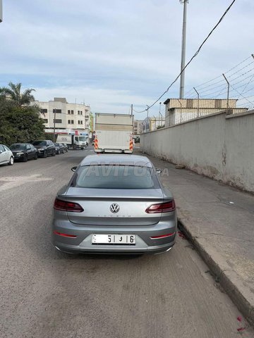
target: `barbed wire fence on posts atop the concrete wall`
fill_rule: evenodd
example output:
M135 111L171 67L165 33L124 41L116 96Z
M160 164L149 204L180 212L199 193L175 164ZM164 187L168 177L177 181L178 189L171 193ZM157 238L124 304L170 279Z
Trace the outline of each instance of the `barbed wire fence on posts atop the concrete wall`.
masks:
M170 99L174 108L169 108L169 113L160 113L159 107L160 115L145 118L143 132L219 111L241 113L254 109L254 55L251 54L222 75L193 86L185 96L186 99Z

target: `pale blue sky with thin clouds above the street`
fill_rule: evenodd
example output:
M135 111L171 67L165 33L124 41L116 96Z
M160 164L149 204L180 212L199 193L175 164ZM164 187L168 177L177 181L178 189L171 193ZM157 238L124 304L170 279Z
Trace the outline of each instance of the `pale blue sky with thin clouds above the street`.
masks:
M189 1L186 61L229 4ZM236 0L187 68L186 93L254 61L253 14L253 0ZM39 101L85 101L94 113L143 110L179 74L182 19L179 0L3 0L0 86L21 82ZM179 97L179 81L160 101L168 97ZM150 114L158 111L159 103Z

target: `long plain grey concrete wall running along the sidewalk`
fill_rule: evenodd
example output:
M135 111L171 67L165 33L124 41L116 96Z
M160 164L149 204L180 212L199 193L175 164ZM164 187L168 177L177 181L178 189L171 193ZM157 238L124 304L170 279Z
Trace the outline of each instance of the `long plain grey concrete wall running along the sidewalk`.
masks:
M141 150L254 192L254 111L215 113L140 136Z

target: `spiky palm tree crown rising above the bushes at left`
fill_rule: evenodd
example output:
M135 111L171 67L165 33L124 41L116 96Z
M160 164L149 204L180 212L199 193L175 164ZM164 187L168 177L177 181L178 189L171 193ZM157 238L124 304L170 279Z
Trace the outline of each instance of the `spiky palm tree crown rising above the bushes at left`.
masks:
M13 84L13 82L10 82L8 86L10 88L0 88L0 95L6 99L10 99L15 106L30 106L30 103L35 101L35 97L31 94L31 92L35 92L35 89L25 89L25 91L21 93L21 83Z

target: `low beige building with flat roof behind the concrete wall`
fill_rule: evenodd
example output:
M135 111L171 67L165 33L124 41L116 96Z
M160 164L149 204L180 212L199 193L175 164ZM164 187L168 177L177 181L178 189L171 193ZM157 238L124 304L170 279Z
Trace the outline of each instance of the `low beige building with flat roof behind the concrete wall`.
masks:
M167 99L165 105L165 127L183 123L193 118L219 113L241 113L248 108L236 108L236 99ZM229 106L228 106L229 105Z

